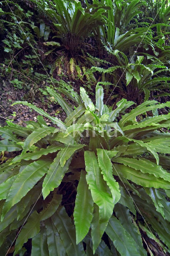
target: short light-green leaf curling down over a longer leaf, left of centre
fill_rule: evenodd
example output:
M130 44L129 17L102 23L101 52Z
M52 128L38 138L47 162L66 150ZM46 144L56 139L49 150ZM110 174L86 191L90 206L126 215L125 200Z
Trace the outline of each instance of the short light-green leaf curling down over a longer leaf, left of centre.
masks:
M60 156L60 165L61 165L61 167L64 167L64 164L66 163L66 161L74 154L74 152L76 150L78 150L80 148L83 148L84 146L86 146L86 145L85 144L79 144L79 145L63 148L62 150L60 150L60 152L61 152L61 156Z

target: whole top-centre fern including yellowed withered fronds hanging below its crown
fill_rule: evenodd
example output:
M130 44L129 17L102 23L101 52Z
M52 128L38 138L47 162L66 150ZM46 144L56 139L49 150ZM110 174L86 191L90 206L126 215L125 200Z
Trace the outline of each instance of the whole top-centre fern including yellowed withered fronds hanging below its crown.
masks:
M90 46L85 43L85 38L106 22L102 14L109 7L99 3L83 8L80 1L32 1L51 20L54 40L44 44L51 46L46 55L52 52L58 55L53 68L54 78L67 74L73 79L78 76L82 80L80 63L86 61L82 52Z

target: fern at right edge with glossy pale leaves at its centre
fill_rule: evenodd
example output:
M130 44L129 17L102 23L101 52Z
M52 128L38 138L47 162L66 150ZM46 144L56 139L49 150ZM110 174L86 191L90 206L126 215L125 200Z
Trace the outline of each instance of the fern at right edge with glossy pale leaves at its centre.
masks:
M110 85L110 91L127 100L140 102L141 93L144 94L142 100L148 100L151 92L156 92L158 96L169 95L165 90L169 88L170 69L165 66L159 58L144 54L135 54L129 62L128 56L119 50L112 50L106 46L106 50L114 56L116 65L99 58L94 58L88 54L90 62L98 64L92 66L91 72L102 73L101 83ZM150 64L147 64L151 61ZM102 66L102 67L101 67ZM109 68L108 68L109 66ZM90 71L89 71L90 72Z

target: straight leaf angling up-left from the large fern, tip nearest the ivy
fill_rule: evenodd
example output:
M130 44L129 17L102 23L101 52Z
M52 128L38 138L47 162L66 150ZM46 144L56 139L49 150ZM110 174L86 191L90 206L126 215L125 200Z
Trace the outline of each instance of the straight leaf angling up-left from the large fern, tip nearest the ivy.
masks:
M50 93L52 97L55 98L56 102L60 104L60 106L64 109L66 112L66 115L68 116L70 113L72 113L71 106L68 105L68 103L58 94L55 90L47 86L47 92Z

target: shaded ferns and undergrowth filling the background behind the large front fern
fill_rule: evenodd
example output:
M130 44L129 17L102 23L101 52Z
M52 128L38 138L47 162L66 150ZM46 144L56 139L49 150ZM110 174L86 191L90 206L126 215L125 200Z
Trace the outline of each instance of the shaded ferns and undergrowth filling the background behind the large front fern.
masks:
M19 4L21 7L18 7ZM85 1L82 7L80 3L77 4L74 1L61 1L59 9L55 7L55 1L54 4L53 2L45 4L44 1L17 1L17 3L9 2L14 12L12 15L9 13L7 3L2 1L4 12L7 12L7 14L3 12L1 14L3 30L1 35L4 40L1 44L2 75L6 74L12 86L16 88L30 90L33 87L32 90L39 91L36 88L39 82L42 83L46 79L48 79L46 82L50 81L47 76L43 76L46 72L42 68L42 62L52 79L71 80L72 85L76 87L78 87L77 84L83 84L90 90L94 89L93 85L95 86L99 81L110 82L110 85L105 85L108 94L117 85L114 95L120 98L125 98L127 95L130 100L130 91L136 90L131 99L140 103L142 98L138 99L137 96L140 93L138 88L140 82L142 84L149 82L150 88L154 88L153 95L162 95L162 88L163 92L168 94L166 88L169 82L163 79L169 76L168 70L162 69L161 72L160 69L158 70L161 67L155 68L159 73L158 76L162 77L162 81L156 82L155 88L154 82L150 81L155 78L155 75L150 72L145 77L141 67L136 71L132 65L136 62L137 56L144 56L142 64L145 66L157 64L169 68L168 17L170 10L167 3L162 4L163 1L146 3L137 0L132 2L103 0L90 3ZM20 8L26 12L25 15ZM158 15L154 15L152 10L154 12L159 10ZM64 16L64 12L68 14ZM86 15L87 18L85 18ZM16 21L17 17L20 24ZM90 21L86 24L86 20ZM81 31L80 34L78 34L79 31ZM142 43L139 45L141 40ZM118 59L118 54L115 52L117 50L126 56L122 55ZM96 60L96 57L101 61ZM104 60L108 63L104 63ZM124 70L129 61L132 63L129 70ZM120 66L120 68L112 68L111 72L105 70L104 76L98 72L94 73L94 68L93 72L91 71L90 68L96 64L105 69L111 66ZM119 80L120 76L122 77ZM34 77L36 83L32 79ZM141 77L144 77L143 81ZM129 82L130 78L132 79ZM55 80L53 82L56 83ZM144 94L148 98L147 86ZM33 93L32 98L34 98Z

